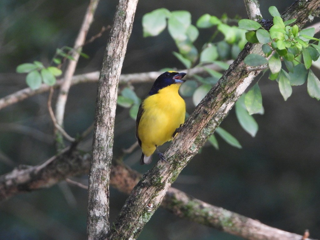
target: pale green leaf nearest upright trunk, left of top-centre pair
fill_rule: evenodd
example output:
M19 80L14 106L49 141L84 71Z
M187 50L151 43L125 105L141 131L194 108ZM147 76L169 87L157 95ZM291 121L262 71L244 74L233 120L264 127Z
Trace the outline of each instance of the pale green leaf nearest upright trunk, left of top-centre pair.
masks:
M166 18L170 16L170 11L165 8L156 9L142 17L143 36L156 36L167 26Z

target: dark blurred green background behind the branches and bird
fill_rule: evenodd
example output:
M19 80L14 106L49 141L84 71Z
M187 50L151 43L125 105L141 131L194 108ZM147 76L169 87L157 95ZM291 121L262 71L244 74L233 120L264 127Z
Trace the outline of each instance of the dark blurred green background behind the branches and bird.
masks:
M100 1L88 38L102 26L112 25L116 1ZM268 7L279 12L292 1L260 1L264 18ZM15 73L17 65L34 60L48 64L56 48L73 46L88 1L0 0L0 97L25 88L25 76ZM187 10L192 23L203 14L221 17L237 14L246 18L243 1L140 1L123 73L183 68L172 55L176 46L167 31L157 37L142 37L143 14L165 7ZM90 59L80 58L77 74L100 70L109 31L84 46ZM204 29L195 45L200 48L213 34ZM317 35L319 37L319 35ZM312 68L316 76L319 70ZM152 83L135 84L140 98ZM294 87L284 101L278 86L266 77L259 82L265 114L255 116L259 131L252 138L238 124L234 109L221 127L234 135L242 149L233 148L218 137L220 150L207 144L173 184L205 202L260 220L272 227L298 234L309 229L320 238L320 104L308 96L306 84ZM71 136L83 132L94 119L97 84L71 88L65 115L65 129ZM57 92L57 91L55 91ZM48 93L37 95L0 111L0 174L20 164L36 165L55 154L52 121L46 101ZM186 99L188 112L194 109ZM128 109L117 108L114 156L135 142L135 121ZM92 136L81 148L90 150ZM168 144L161 149L164 150ZM140 149L124 162L144 173L152 166L140 166ZM73 178L87 184L87 176ZM110 189L110 220L115 220L126 195ZM86 239L87 191L66 182L40 191L14 196L0 203L0 240ZM144 239L240 239L159 209L143 229Z

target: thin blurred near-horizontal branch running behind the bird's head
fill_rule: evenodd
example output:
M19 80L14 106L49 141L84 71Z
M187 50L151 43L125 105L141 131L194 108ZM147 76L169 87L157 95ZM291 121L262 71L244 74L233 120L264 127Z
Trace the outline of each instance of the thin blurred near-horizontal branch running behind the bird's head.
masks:
M232 61L228 61L227 63L231 64ZM213 69L216 71L221 71L222 69L216 64L206 65L206 68ZM188 75L185 78L190 78L190 76L194 74L204 74L206 71L202 67L196 67L191 69L182 69L179 72L188 72ZM144 83L144 82L153 82L155 79L162 74L162 72L145 72L145 73L132 73L132 74L121 74L119 84L127 84L127 83ZM91 72L84 73L80 75L76 75L72 77L71 85L81 84L81 83L96 83L98 82L100 72ZM64 82L64 78L58 80L54 88L60 87ZM14 103L25 100L29 97L32 97L36 94L48 92L50 90L50 86L47 84L42 84L39 89L32 90L30 88L22 89L18 92L14 92L8 96L5 96L0 99L0 110L2 108L6 108Z

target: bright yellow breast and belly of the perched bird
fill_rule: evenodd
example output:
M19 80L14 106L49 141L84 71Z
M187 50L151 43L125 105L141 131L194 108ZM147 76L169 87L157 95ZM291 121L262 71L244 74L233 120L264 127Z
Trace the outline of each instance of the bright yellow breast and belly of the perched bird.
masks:
M176 128L184 123L186 104L178 93L179 87L180 84L171 84L148 96L142 103L138 135L146 156L155 151L155 145L172 140Z

